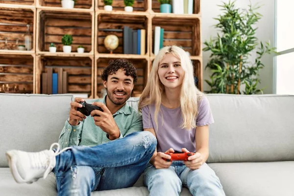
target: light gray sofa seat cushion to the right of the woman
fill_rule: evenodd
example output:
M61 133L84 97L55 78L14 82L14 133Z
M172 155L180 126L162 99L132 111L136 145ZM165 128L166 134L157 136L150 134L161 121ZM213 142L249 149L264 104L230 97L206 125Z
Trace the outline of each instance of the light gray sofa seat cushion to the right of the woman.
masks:
M294 196L294 161L208 165L227 196Z

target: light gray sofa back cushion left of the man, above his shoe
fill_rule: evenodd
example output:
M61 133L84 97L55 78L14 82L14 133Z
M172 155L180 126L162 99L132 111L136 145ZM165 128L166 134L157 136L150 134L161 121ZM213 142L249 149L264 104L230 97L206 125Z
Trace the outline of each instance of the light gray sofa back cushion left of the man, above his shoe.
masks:
M58 142L72 95L0 94L0 167L9 149L40 151Z

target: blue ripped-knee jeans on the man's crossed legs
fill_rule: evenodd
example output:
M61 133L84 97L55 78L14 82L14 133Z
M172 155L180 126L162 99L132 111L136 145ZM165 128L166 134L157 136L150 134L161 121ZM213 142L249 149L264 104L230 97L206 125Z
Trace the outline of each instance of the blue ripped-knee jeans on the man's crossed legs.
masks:
M133 186L152 157L157 141L148 131L95 147L76 146L56 156L58 196L90 196L93 191Z

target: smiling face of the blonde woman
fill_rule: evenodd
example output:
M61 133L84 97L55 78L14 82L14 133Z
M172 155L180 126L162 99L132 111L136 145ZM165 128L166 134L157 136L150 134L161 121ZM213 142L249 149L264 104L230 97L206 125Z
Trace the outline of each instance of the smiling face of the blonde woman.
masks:
M165 88L175 89L183 83L185 71L179 58L172 53L167 53L159 62L158 76Z

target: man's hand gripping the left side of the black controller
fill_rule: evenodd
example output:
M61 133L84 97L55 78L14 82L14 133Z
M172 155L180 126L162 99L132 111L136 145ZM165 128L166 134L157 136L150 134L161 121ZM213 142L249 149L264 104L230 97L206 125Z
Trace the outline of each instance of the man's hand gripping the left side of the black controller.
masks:
M83 121L83 119L86 119L86 116L77 111L76 109L78 107L83 107L78 102L84 101L83 98L74 98L74 101L71 102L71 110L70 110L70 120L69 123L71 125L78 125L79 121Z

